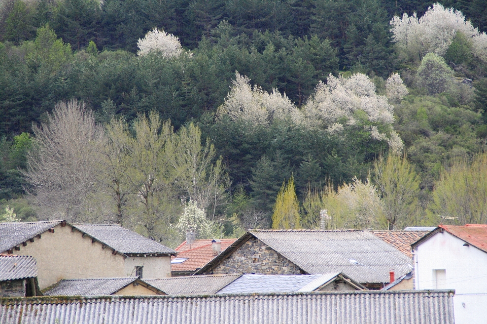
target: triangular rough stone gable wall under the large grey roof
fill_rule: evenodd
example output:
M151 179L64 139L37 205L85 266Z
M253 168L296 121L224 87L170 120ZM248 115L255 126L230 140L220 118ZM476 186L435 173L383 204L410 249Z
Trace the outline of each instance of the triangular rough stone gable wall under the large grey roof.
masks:
M213 269L213 274L304 274L294 263L256 237L250 238Z

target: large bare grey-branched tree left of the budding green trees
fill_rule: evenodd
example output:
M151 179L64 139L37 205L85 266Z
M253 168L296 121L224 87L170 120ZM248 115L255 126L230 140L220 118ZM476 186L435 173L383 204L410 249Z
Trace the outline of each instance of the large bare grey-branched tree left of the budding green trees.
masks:
M97 164L103 131L93 113L73 99L59 102L46 123L33 126L33 149L23 174L42 218L71 222L99 221L103 204L97 198Z

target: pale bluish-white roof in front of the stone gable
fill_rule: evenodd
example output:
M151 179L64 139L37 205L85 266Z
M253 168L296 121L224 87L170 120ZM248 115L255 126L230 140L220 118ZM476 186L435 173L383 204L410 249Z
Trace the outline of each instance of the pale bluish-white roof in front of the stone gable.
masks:
M297 292L316 279L324 277L325 282L333 279L339 273L308 274L308 275L269 275L269 274L243 274L235 281L218 292L218 294L265 294L265 293L292 293ZM313 291L318 285L309 291Z

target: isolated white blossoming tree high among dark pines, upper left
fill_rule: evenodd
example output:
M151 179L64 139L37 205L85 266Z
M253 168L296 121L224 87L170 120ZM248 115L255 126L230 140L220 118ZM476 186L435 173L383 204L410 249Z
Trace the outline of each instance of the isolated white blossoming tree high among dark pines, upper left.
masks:
M144 56L150 52L157 52L163 57L173 57L183 52L178 37L157 28L147 32L144 38L139 38L137 47L138 56Z

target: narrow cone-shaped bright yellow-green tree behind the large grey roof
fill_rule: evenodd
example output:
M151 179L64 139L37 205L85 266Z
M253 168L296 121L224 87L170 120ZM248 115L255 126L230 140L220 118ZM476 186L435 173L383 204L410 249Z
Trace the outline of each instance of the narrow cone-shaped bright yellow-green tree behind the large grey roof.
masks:
M277 197L272 214L273 229L294 229L299 228L299 202L294 187L294 177L283 182L283 186Z

